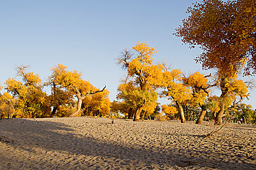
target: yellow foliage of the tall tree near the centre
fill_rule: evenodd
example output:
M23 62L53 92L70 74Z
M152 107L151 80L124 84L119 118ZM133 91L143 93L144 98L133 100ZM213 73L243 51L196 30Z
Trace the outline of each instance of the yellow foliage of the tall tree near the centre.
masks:
M157 52L147 42L138 42L118 57L118 65L127 68L130 80L118 86L117 98L130 108L142 107L147 113L153 113L157 106L157 93L154 89L161 84L162 66L154 65L153 56Z

